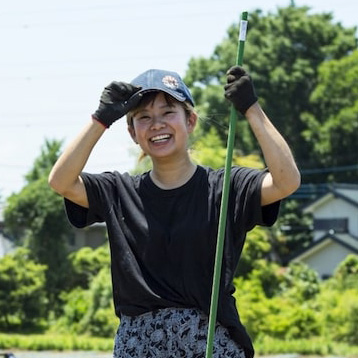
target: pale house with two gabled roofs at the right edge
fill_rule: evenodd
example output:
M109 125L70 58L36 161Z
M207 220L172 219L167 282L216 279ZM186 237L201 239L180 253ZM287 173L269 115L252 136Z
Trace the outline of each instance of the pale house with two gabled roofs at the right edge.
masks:
M358 254L358 185L333 184L303 212L313 216L313 241L291 261L328 278L347 255Z

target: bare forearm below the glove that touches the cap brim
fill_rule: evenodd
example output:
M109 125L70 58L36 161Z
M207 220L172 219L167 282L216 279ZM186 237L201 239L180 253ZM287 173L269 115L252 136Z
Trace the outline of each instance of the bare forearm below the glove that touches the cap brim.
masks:
M78 185L79 175L104 131L102 124L91 120L65 148L49 175L49 184L57 193L66 196Z

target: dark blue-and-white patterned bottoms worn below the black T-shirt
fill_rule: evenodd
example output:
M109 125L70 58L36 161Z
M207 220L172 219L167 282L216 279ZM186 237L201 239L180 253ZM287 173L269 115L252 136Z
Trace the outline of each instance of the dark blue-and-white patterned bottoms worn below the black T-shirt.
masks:
M197 309L165 308L136 317L122 316L113 358L204 358L208 317ZM213 358L245 358L220 324L215 328Z

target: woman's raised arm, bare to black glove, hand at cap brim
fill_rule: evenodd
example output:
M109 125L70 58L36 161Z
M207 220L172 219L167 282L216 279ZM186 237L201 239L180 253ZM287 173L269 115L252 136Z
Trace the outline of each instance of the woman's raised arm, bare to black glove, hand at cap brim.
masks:
M140 101L134 96L140 88L125 82L112 82L102 92L100 105L92 120L59 157L49 175L49 185L74 203L88 207L81 172L106 128L123 117Z

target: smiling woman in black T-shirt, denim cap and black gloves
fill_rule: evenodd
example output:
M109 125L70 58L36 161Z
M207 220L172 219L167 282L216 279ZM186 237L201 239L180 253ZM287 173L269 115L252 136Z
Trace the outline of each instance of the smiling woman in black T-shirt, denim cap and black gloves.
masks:
M268 170L233 167L214 357L253 356L232 296L246 233L272 225L300 175L291 151L257 102L241 67L227 73L225 97L248 120ZM133 140L152 160L141 175L83 173L106 128L127 115ZM83 131L54 165L49 183L65 197L76 227L106 222L113 297L121 324L114 357L204 357L223 170L196 165L188 138L193 98L175 72L149 70L112 82Z

